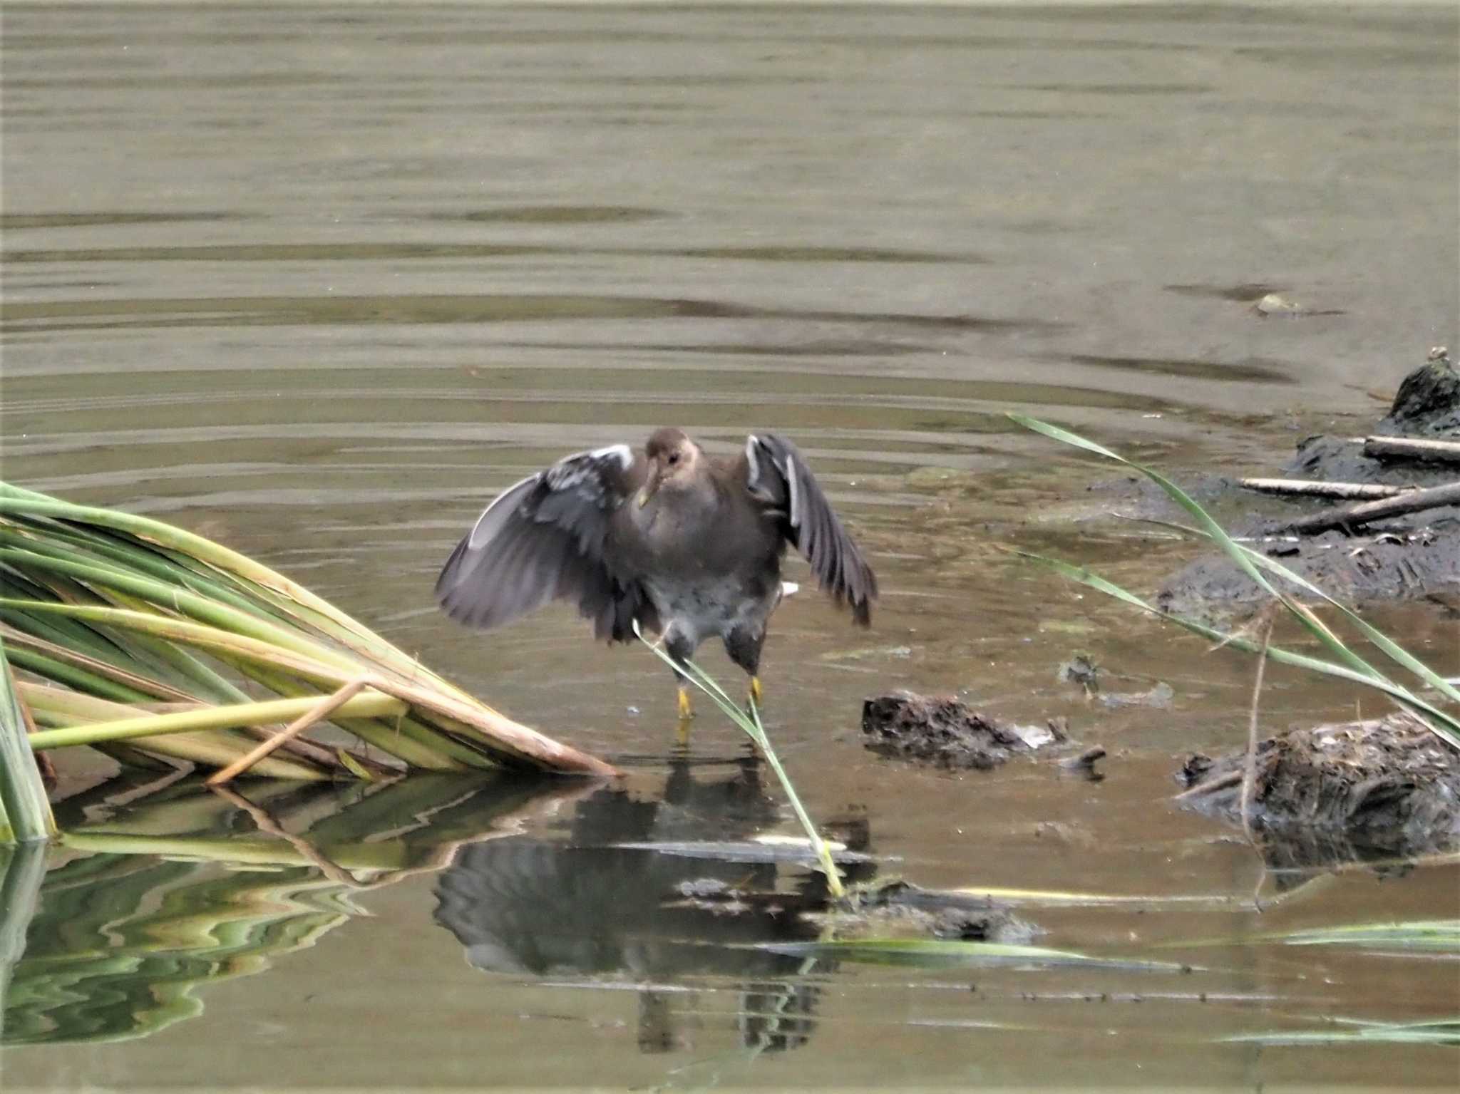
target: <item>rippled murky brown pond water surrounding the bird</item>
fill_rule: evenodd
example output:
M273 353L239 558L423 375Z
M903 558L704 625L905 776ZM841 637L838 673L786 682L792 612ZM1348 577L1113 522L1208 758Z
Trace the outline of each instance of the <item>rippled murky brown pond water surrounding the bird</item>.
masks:
M999 551L1139 588L1188 554L1070 522L1108 473L1007 410L1245 473L1454 346L1453 9L12 4L0 29L4 477L256 554L631 772L245 786L323 862L188 786L83 783L93 842L32 878L4 1031L39 1047L6 1050L9 1087L1453 1081L1453 1047L1223 1040L1453 1017L1453 954L1257 935L1453 915L1460 874L1264 878L1168 802L1178 757L1242 738L1251 664ZM1310 314L1259 318L1266 292ZM467 635L429 589L493 490L666 423L785 432L869 547L873 630L807 588L765 661L769 731L866 869L1193 897L1018 915L1200 971L806 966L764 910L664 906L815 888L618 846L794 831L733 729L702 716L670 763L657 662L568 610ZM1453 617L1381 620L1460 672ZM1172 709L1086 706L1054 680L1076 649ZM1269 677L1273 729L1378 706ZM880 761L857 718L888 687L1069 715L1108 777ZM142 839L184 834L237 846Z

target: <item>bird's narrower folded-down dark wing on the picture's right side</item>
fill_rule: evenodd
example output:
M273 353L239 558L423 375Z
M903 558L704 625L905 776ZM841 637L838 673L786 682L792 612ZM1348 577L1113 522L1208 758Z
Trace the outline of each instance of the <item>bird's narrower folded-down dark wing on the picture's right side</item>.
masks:
M851 604L853 618L867 626L877 578L841 527L796 445L774 433L748 438L745 483L756 500L783 518L783 534L810 562L821 586L838 604Z

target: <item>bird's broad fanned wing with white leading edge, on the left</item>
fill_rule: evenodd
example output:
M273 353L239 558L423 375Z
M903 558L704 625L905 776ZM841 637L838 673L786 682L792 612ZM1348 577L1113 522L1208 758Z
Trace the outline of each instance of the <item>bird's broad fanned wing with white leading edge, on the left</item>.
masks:
M577 452L504 490L437 579L437 601L472 627L499 627L550 600L578 601L599 637L626 640L645 605L606 559L609 521L644 468L628 445ZM653 620L645 620L653 627Z

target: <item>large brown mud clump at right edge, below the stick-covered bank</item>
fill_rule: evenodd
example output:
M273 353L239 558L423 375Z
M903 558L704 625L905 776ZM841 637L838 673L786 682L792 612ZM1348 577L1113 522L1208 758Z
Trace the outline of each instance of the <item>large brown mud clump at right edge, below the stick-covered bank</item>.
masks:
M1241 823L1244 751L1181 769L1181 805ZM1409 715L1295 729L1257 747L1253 826L1279 865L1460 847L1460 751Z

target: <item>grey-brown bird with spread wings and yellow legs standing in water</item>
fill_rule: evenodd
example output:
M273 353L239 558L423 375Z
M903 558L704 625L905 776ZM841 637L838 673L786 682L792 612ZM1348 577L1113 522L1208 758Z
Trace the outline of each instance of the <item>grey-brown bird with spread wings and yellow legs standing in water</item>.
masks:
M853 621L870 626L877 579L802 452L750 435L731 457L708 455L682 429L644 448L566 455L507 487L451 551L435 595L447 616L489 630L553 600L577 601L594 636L660 636L677 684L680 741L694 716L682 668L718 637L759 706L761 649L796 547Z

